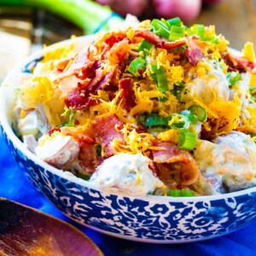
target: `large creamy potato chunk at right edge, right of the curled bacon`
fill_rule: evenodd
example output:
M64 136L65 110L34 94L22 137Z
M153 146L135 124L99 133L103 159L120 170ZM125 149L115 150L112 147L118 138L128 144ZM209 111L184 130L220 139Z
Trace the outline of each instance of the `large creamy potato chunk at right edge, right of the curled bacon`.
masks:
M255 184L256 145L244 133L232 131L213 143L199 140L194 157L203 173L222 177L230 191Z

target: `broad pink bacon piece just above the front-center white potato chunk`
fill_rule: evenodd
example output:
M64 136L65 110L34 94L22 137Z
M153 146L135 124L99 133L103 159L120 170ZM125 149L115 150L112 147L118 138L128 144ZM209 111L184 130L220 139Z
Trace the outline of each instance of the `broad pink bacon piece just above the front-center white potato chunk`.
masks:
M123 125L123 122L115 114L96 118L93 129L96 135L96 143L100 143L105 149L104 156L109 157L114 154L113 148L110 145L113 138L124 141L124 135L116 130L116 128L122 128Z

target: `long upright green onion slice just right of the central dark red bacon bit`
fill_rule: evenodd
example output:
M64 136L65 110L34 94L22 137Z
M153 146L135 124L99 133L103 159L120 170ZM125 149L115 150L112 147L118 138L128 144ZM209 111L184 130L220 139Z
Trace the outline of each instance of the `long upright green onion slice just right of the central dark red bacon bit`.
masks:
M151 69L153 71L151 76L154 81L156 81L158 90L160 90L160 92L166 92L169 90L165 68L163 66L157 67L157 64L153 63L151 64Z

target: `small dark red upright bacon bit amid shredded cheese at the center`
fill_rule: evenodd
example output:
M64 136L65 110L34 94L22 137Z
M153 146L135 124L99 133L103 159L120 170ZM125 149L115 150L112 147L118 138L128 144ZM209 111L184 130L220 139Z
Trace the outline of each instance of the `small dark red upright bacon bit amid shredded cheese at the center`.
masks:
M136 96L131 82L131 79L121 79L119 81L119 90L122 90L120 94L120 97L122 97L122 106L128 112L136 105Z

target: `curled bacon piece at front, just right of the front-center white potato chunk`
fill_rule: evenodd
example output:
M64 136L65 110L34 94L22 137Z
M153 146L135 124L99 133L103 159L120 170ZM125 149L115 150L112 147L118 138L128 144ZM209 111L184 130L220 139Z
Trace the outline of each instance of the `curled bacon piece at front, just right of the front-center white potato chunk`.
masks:
M191 154L189 154L189 152L177 148L177 146L172 143L158 142L155 146L164 149L153 151L154 162L163 165L179 163L181 176L180 184L190 185L192 183L195 183L195 181L199 177L200 170L194 158ZM160 177L166 177L166 175L168 175L168 173L160 173Z

